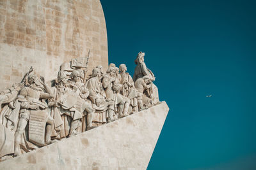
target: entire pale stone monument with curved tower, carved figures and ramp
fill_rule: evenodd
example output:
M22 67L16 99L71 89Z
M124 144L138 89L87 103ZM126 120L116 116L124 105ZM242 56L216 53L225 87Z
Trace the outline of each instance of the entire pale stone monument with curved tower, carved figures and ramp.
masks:
M169 109L145 53L108 66L100 1L0 10L0 169L146 169Z

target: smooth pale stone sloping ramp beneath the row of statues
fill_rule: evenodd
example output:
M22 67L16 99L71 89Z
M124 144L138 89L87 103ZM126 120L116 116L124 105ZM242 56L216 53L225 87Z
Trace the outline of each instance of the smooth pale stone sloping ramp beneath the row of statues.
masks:
M147 169L168 110L157 104L0 162L0 169Z

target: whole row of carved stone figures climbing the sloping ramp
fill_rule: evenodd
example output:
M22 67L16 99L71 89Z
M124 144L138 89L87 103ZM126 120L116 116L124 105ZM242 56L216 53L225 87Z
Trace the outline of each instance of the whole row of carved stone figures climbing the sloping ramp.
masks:
M155 76L144 56L138 53L133 78L125 64L109 64L106 73L97 66L86 78L88 59L72 59L61 65L51 86L31 67L20 83L0 94L0 160L158 104Z

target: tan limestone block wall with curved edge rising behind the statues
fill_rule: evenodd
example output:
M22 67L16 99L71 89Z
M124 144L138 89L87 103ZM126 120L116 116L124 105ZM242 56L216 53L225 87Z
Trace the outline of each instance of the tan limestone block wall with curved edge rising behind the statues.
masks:
M99 0L1 0L0 90L20 82L30 66L46 80L62 62L87 57L108 67L108 41Z

